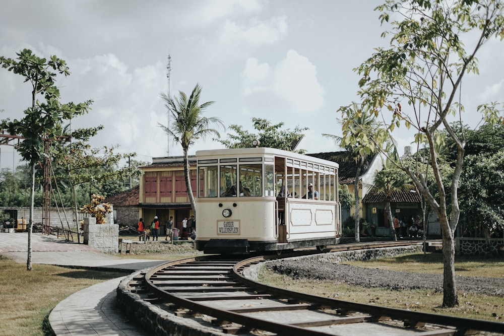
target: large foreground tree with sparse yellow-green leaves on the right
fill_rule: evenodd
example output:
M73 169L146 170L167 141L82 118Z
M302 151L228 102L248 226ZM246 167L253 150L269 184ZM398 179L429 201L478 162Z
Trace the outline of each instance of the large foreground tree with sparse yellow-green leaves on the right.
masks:
M390 47L378 48L356 71L361 76L360 95L376 117L388 122L388 130L404 124L413 127L416 141L426 141L429 164L439 196L429 191L423 173L400 164L429 203L443 232L443 306L458 305L455 282L454 233L460 216L459 178L466 139L457 135L447 117L462 123L461 83L467 73L478 73L475 55L492 37L504 38L502 2L496 0L389 0L377 7L382 23L391 18ZM466 42L466 43L464 43ZM465 45L470 47L465 47ZM401 103L407 107L401 107ZM499 120L497 105L478 107L485 121ZM379 116L382 114L381 116ZM447 192L440 173L435 139L444 127L455 143L456 160ZM451 195L448 209L447 194Z

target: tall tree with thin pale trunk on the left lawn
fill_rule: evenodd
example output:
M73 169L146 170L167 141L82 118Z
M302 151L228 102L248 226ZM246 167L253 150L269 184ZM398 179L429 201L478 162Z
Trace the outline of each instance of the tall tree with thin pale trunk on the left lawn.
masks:
M35 165L44 157L44 147L49 153L54 149L54 143L59 140L64 120L87 113L91 105L88 100L84 103L62 104L59 89L56 86L56 76L70 75L65 60L51 56L49 59L41 58L33 54L29 49L17 53L16 59L0 56L2 68L12 71L24 77L25 82L30 82L32 87L31 106L20 120L2 121L2 127L11 134L21 135L24 140L20 145L21 157L28 161L31 171L30 191L30 218L28 223L28 257L26 268L33 270L32 266L32 242L31 234L33 227L33 206L35 195ZM43 101L37 97L41 95Z

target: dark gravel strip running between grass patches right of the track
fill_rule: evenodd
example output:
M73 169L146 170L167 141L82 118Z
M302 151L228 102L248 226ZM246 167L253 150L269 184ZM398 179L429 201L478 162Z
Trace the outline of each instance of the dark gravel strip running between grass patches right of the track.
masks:
M391 290L430 289L443 291L443 275L396 272L312 260L280 260L268 264L270 270L293 279L332 280L368 288ZM457 289L504 297L504 280L457 276Z

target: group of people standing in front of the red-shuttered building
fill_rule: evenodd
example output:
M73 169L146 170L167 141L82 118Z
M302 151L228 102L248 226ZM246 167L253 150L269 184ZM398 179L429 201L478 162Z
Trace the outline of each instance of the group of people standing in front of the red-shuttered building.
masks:
M159 220L157 216L154 216L153 221L151 222L150 225L145 225L144 219L140 218L138 225L138 240L142 241L142 239L145 240L151 240L151 235L152 235L152 240L157 241L159 238ZM182 220L182 232L176 227L173 226L173 216L170 216L170 219L166 223L166 238L165 240L168 239L173 239L173 240L178 240L178 239L185 239L187 240L188 237L191 237L191 239L196 239L196 219L194 216L191 216L189 218L184 217Z

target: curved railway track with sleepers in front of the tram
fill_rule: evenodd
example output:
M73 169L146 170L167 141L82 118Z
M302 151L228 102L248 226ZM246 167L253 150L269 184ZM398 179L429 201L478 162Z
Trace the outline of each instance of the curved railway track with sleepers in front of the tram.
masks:
M366 248L363 245L370 248L375 244L337 245L326 251ZM294 251L281 257L313 253L320 251ZM215 332L208 334L461 335L504 331L500 322L313 296L267 286L243 276L250 265L279 257L258 255L240 260L202 256L167 262L135 276L128 288L174 316L211 325Z

